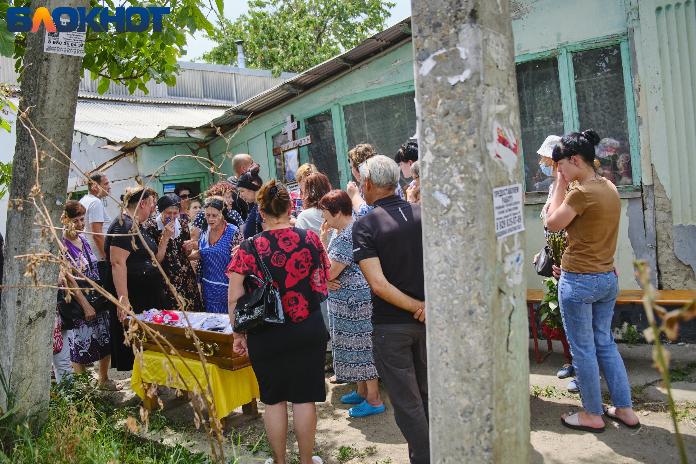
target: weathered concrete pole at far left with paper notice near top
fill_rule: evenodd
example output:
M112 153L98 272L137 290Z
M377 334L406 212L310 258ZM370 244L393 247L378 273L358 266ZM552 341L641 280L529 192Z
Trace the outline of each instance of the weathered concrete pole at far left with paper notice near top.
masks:
M88 0L38 0L31 3L31 16L40 6L53 11L58 6L89 7ZM29 118L35 127L70 156L72 131L77 106L77 89L82 66L81 56L44 53L45 28L26 35L22 74L22 109L33 106ZM17 145L10 183L10 202L15 198L29 200L29 193L36 183L34 166L35 150L22 122L17 118ZM67 164L61 154L38 134L33 134L39 155L43 151ZM65 209L68 190L68 168L48 157L39 161L38 182L43 200L56 227L62 227L61 214ZM55 242L40 243L41 230L35 222L34 207L24 202L23 210L8 211L5 241L5 275L3 284L29 285L31 278L24 278L26 260L16 255L30 250L46 249L58 252ZM56 285L58 267L41 264L38 281ZM56 290L34 287L6 288L2 292L0 310L0 366L6 378L12 375L12 387L21 397L22 411L30 412L45 407L51 385L51 355L53 328L56 315ZM68 340L65 340L68 343ZM5 409L4 392L0 389L0 407Z

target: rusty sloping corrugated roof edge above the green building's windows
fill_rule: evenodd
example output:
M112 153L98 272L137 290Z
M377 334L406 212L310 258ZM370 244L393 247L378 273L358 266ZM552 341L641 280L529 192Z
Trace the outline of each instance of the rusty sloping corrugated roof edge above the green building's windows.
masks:
M357 47L334 56L315 67L311 67L305 72L292 77L292 79L288 79L274 88L266 90L264 93L255 95L245 102L232 106L224 115L214 120L213 123L218 127L224 127L239 122L239 120L246 118L246 115L250 113L259 115L296 95L301 95L303 91L309 90L327 79L331 79L331 77L335 77L345 71L357 69L361 66L361 63L375 54L395 47L395 45L410 38L411 17L408 17L399 24L395 24L389 29L363 40Z

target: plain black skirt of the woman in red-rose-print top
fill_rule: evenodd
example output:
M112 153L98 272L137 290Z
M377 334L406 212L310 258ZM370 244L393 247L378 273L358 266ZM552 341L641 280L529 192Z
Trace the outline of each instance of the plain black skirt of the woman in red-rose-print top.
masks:
M326 401L326 326L318 307L302 322L286 319L247 342L263 403Z

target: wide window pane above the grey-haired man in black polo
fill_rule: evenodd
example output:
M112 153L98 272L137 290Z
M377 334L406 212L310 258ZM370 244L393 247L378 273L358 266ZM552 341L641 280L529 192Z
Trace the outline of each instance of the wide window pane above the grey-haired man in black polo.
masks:
M393 159L402 143L416 134L415 95L404 93L344 106L348 150L358 143L370 143Z

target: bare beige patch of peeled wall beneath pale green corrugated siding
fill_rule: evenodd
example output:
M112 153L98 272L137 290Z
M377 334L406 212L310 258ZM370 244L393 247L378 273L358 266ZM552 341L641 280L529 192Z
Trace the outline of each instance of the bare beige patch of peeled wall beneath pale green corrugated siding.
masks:
M679 259L679 255L682 257L693 257L693 243L695 243L693 230L679 230L679 241L675 241L674 230L677 226L674 226L672 223L672 202L667 198L665 187L662 185L655 170L653 170L653 182L655 185L655 227L657 232L659 288L673 290L696 289L694 269ZM684 239L683 232L689 231L692 233L692 236ZM692 243L691 248L688 248L689 243Z

